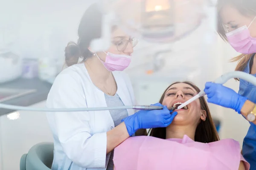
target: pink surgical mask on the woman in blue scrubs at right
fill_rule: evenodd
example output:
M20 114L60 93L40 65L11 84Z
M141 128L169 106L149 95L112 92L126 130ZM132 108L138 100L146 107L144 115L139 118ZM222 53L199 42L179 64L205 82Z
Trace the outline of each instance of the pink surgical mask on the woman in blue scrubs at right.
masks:
M255 18L256 17L254 17L250 25L253 23ZM248 30L250 25L248 27L242 26L226 34L230 45L239 53L256 53L256 38L250 36L250 31Z

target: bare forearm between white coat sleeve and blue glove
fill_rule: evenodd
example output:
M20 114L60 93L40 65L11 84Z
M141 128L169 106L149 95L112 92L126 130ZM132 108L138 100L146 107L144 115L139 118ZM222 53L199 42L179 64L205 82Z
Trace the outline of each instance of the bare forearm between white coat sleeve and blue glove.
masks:
M122 122L112 130L107 132L107 154L115 147L125 141L129 136L125 123Z

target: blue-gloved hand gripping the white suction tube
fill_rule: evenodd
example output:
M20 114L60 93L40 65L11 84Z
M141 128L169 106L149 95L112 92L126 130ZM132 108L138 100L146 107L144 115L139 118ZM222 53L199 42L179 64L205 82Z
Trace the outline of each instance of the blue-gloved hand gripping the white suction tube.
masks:
M213 82L207 82L205 84L204 92L207 94L208 102L226 108L232 108L238 113L240 113L244 102L247 100L246 97L240 96L232 89Z

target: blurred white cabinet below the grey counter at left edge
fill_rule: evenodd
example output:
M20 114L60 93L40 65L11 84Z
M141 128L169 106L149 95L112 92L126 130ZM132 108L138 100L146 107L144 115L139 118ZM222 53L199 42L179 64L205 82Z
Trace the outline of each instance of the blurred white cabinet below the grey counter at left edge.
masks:
M32 107L43 108L45 101ZM7 115L0 117L0 170L19 170L20 157L33 145L53 141L46 113L17 113L20 114L18 119L9 119Z

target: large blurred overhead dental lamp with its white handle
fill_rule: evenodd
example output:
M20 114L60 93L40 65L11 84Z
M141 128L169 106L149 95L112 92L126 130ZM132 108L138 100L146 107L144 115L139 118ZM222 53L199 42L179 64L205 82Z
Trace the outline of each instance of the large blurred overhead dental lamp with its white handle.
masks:
M108 49L112 26L147 42L175 42L201 25L205 5L204 0L99 0L102 37L90 47Z

